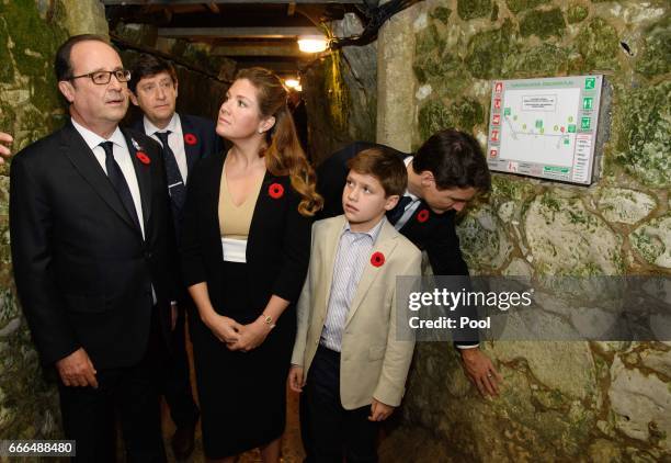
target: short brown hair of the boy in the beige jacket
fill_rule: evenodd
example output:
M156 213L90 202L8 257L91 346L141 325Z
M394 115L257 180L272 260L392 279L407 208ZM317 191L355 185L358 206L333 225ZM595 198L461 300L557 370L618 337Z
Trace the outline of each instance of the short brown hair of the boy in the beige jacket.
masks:
M386 147L373 147L360 151L348 161L348 168L356 173L373 176L383 185L385 196L401 196L408 188L406 163Z

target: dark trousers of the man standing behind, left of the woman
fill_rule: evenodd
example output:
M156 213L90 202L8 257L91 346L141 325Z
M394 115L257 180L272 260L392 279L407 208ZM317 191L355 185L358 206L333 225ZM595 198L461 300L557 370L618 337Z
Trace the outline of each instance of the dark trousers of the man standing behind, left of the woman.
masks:
M191 392L184 306L185 303L180 303L178 306L178 319L172 332L172 355L166 364L162 389L170 407L170 417L178 428L195 426L201 415Z

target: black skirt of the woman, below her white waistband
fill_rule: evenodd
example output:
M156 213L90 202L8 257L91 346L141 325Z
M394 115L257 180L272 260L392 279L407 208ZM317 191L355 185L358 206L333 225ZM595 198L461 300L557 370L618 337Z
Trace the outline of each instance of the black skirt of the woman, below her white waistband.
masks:
M221 273L224 309L216 307L217 313L240 324L259 318L264 307L255 307L241 291L253 279L249 266L223 262ZM249 352L228 350L198 317L192 331L205 454L236 455L281 437L296 335L294 306L284 310L265 341Z

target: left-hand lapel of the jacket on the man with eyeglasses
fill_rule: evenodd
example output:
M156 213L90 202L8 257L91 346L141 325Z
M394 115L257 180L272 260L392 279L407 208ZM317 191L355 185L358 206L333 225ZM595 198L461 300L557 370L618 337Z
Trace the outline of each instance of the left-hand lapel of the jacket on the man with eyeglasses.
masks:
M72 123L68 122L62 129L64 139L61 149L70 159L75 169L84 178L95 193L130 227L137 229L135 223L126 212L118 194L112 187L110 179L102 169L95 155L86 144L81 135L75 129ZM139 233L139 230L138 230Z

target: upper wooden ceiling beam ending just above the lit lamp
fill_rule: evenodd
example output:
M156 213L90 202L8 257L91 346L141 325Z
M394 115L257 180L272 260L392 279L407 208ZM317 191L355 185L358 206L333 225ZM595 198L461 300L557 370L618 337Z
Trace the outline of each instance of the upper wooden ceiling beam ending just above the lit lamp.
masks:
M293 38L323 35L317 27L159 27L161 37Z

